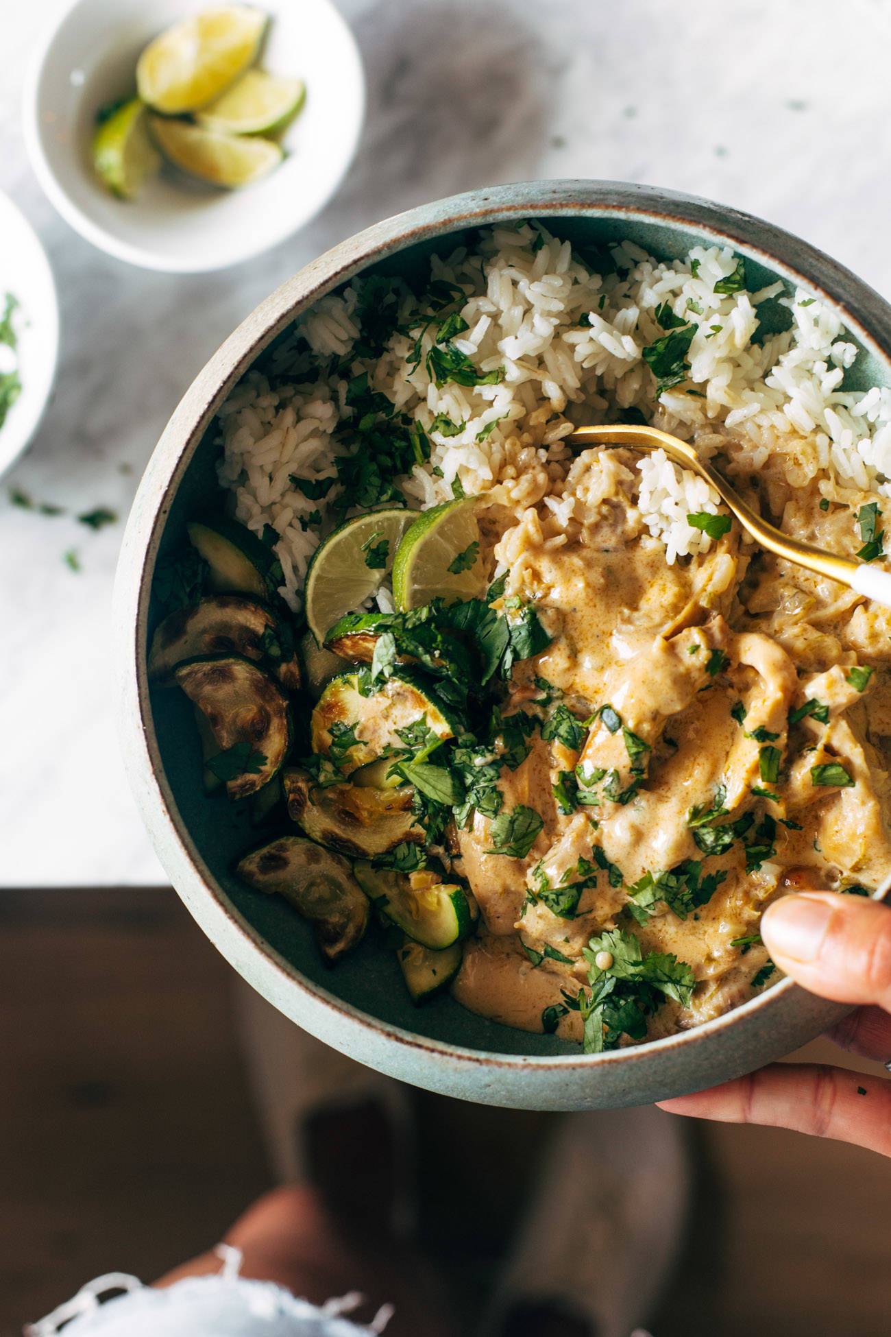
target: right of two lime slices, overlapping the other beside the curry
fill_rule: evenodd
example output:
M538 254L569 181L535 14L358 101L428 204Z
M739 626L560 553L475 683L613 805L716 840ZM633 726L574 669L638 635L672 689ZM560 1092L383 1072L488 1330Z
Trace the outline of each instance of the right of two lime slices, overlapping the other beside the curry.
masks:
M437 598L476 599L485 592L474 509L473 497L445 501L423 511L406 529L393 563L397 608L419 608Z

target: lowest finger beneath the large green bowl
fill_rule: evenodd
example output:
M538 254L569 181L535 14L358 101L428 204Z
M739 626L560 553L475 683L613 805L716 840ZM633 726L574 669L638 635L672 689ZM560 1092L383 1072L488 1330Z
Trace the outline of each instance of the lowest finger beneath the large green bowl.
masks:
M773 1063L711 1091L659 1104L672 1114L720 1123L795 1128L891 1157L891 1082L844 1068Z

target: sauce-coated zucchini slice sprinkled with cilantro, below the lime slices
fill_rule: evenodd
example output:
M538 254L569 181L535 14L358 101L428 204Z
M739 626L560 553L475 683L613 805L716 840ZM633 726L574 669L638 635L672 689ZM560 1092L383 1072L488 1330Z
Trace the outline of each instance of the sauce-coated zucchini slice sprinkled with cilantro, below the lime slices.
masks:
M330 757L345 774L386 751L405 749L399 730L426 722L426 742L414 753L423 761L461 725L419 675L398 668L377 691L363 695L359 675L343 673L327 685L313 711L313 751Z

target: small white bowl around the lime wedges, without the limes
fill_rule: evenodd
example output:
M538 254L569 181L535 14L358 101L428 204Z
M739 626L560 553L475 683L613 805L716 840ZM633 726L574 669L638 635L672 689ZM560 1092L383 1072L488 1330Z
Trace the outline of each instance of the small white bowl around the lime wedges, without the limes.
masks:
M270 16L260 66L306 82L285 131L283 163L243 190L215 190L163 171L135 201L96 179L96 111L135 91L136 59L171 23L214 0L73 0L39 47L25 82L25 143L47 195L81 237L131 265L194 274L285 241L327 203L355 152L365 116L362 60L330 0L259 0Z

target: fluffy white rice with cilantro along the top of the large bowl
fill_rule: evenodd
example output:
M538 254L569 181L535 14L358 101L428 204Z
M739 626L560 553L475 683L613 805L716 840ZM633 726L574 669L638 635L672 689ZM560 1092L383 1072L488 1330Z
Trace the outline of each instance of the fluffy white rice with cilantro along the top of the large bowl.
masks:
M532 473L568 457L562 440L573 427L617 421L628 409L693 440L704 455L720 445L735 473L755 473L779 455L793 485L827 471L842 485L891 495L891 390L842 389L856 348L826 303L804 290L780 295L781 283L716 293L736 267L729 249L699 246L683 262L663 263L624 242L612 255L616 271L601 275L569 242L524 223L484 233L472 254L458 249L431 258L431 279L465 294L457 309L468 329L454 346L482 373L504 368L497 384L437 386L425 356L414 369L407 361L417 332L394 334L379 357L350 357L361 334L355 286L317 302L263 372L239 382L220 410L219 479L234 492L240 521L258 533L267 525L278 532L282 594L293 607L319 537L350 512L329 513L337 483L325 500L309 500L291 480L335 476L333 461L353 441L347 384L362 372L429 435L430 459L399 480L411 507L448 500L460 480L468 495L501 484L521 513L542 499L530 491ZM789 309L792 326L759 345L752 342L757 309L771 298ZM417 317L417 299L403 285L394 285L390 301L401 324ZM655 314L663 302L696 333L687 380L657 400L643 350L665 334ZM464 427L446 437L431 429L438 414ZM711 539L687 516L716 509L712 489L661 452L641 456L637 467L639 507L665 543L667 560L705 551ZM568 524L572 499L546 500Z

